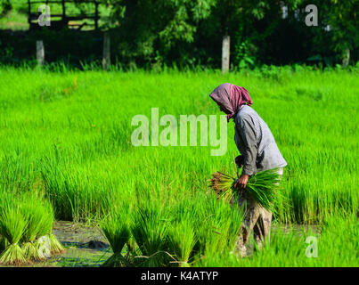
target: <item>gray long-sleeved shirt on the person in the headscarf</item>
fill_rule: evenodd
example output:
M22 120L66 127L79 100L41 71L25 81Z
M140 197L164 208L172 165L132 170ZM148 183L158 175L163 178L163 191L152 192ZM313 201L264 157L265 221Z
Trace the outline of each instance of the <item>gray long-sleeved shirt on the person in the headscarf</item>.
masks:
M234 140L243 156L242 174L255 175L259 171L287 165L271 130L255 110L242 105L234 123Z

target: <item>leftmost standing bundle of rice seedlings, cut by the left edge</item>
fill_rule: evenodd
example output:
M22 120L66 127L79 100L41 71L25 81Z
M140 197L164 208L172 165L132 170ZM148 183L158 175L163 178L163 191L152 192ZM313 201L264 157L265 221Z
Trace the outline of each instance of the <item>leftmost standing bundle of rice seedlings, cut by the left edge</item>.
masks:
M0 255L0 264L21 265L26 258L20 248L20 240L27 226L19 205L12 203L0 208L0 234L6 239L6 247Z

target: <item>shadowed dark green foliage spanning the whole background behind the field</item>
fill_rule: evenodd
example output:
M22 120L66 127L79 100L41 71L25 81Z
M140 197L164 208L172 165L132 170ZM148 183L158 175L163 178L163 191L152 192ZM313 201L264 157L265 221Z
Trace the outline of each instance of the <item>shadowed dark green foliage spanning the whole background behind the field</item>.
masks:
M110 30L111 61L123 68L218 68L224 35L231 37L232 69L358 61L358 0L100 2L100 28ZM317 27L305 24L307 4L318 8ZM0 0L0 7L0 62L33 61L38 39L44 40L47 62L81 68L101 61L101 32L54 32L46 27L29 32L26 1ZM93 10L91 4L67 4L69 13ZM51 12L61 12L61 4L51 4Z

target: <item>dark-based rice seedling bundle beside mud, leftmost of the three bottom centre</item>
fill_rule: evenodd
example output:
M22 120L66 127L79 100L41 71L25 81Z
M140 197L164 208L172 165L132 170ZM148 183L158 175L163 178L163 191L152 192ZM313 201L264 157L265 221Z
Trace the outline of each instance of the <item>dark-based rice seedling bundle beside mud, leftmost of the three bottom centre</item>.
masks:
M102 232L110 242L113 255L102 266L117 267L129 265L121 251L130 238L128 208L121 208L106 216L101 223Z

